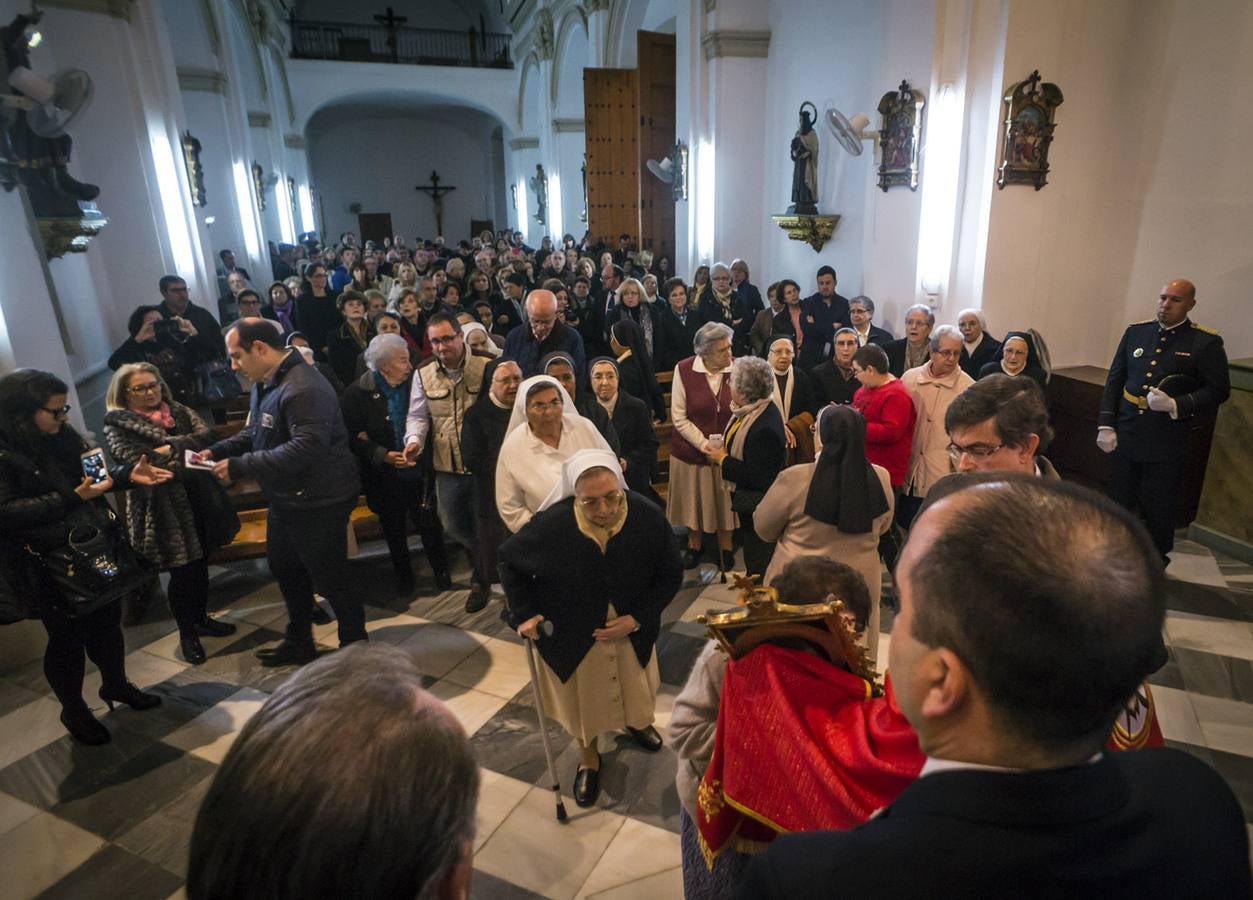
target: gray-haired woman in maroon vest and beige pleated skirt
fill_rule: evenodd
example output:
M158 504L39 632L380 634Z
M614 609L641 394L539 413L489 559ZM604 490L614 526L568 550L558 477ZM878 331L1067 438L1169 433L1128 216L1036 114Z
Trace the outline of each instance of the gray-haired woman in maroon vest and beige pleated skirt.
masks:
M704 451L719 445L730 421L730 326L705 322L692 341L694 356L680 360L670 382L670 478L665 518L688 529L684 568L700 562L705 534L718 535L719 552L730 562L736 515L722 488L722 473Z

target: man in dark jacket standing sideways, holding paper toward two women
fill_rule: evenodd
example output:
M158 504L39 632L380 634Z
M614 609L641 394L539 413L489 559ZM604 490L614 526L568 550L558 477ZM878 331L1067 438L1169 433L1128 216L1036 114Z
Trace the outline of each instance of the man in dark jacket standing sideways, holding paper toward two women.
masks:
M306 663L313 648L313 590L335 608L340 646L366 639L361 595L348 573L348 514L361 479L340 400L313 366L283 346L274 323L242 318L227 331L231 366L252 381L248 425L200 451L223 481L256 479L269 498L266 555L287 605L287 634L258 651L262 666Z

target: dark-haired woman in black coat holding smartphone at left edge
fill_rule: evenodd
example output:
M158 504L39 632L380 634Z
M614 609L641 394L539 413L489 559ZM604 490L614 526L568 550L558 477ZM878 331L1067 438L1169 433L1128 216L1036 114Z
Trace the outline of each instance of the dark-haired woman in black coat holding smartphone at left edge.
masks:
M86 444L69 424L69 389L51 372L19 369L0 379L0 559L10 584L48 631L44 676L61 703L61 725L81 743L107 743L105 728L83 701L84 652L100 669L100 699L150 709L160 703L127 681L122 603L71 618L53 580L25 552L68 543L68 519L83 504L107 506L103 495L132 485L154 486L174 474L140 456L108 469L100 481L84 474Z

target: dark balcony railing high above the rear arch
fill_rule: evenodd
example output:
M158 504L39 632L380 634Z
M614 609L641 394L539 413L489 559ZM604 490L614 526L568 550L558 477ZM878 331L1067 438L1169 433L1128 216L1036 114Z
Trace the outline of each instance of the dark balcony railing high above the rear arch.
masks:
M292 19L292 59L512 69L509 35Z

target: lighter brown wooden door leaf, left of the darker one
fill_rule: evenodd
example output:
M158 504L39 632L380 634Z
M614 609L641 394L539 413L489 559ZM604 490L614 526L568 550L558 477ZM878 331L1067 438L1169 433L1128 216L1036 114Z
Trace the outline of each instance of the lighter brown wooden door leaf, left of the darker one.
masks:
M588 231L593 243L639 243L639 105L635 69L584 69Z

